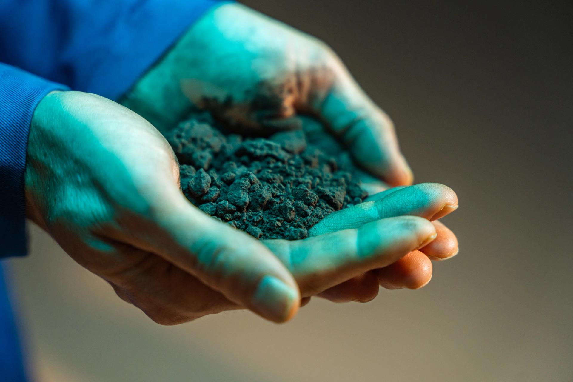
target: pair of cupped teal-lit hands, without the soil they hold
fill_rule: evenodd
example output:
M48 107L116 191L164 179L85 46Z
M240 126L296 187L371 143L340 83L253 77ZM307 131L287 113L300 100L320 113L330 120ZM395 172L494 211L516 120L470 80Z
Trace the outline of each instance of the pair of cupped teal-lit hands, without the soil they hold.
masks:
M366 302L380 285L421 288L431 260L457 253L438 220L456 209L456 194L409 186L390 119L339 58L245 6L209 11L120 103L70 91L38 104L27 214L160 324L233 309L283 322L311 296ZM191 107L258 133L304 128L327 151L350 154L370 196L303 240L258 241L217 222L183 196L162 135Z

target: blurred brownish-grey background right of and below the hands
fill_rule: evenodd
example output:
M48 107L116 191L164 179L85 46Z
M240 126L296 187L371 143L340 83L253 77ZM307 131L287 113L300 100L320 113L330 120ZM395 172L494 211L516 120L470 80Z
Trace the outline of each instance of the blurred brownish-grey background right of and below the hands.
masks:
M163 327L44 233L11 259L40 381L573 381L573 3L249 0L327 41L452 187L460 254L422 290Z

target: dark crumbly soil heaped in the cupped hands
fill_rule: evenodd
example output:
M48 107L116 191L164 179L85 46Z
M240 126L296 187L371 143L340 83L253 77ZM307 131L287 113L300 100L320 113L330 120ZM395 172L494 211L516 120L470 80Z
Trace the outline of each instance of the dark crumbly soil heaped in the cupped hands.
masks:
M302 130L244 137L194 113L167 140L187 199L258 239L303 239L325 216L367 196L351 165L309 145Z

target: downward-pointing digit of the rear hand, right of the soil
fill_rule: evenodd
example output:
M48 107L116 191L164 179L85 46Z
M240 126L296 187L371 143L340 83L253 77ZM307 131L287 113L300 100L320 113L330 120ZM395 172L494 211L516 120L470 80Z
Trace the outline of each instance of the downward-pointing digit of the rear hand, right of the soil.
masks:
M394 124L360 88L342 62L334 81L311 106L348 148L356 163L391 186L411 184L413 175L398 147Z

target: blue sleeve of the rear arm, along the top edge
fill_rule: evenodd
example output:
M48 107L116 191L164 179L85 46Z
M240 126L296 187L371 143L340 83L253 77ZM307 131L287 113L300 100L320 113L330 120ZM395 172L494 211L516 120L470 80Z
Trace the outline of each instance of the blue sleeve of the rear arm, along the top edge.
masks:
M0 0L0 62L117 100L215 0Z

